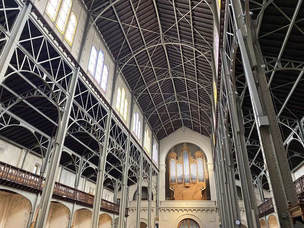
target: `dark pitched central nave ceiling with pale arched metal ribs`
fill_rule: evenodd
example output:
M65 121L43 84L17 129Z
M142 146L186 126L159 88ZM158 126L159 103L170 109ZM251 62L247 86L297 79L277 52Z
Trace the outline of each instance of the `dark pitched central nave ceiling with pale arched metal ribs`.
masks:
M95 25L118 60L120 72L135 91L141 109L154 110L150 112L149 123L161 126L156 134L158 140L186 125L210 136L210 131L203 130L201 124L211 125L211 109L205 110L208 114L204 116L204 111L190 103L192 100L202 106L207 102L211 106L213 6L210 3L84 1L93 11ZM166 104L171 95L174 100ZM181 96L188 102L181 104ZM157 108L160 103L163 105ZM178 113L180 119L171 120L173 113ZM190 119L183 119L184 113ZM192 118L199 120L198 124Z

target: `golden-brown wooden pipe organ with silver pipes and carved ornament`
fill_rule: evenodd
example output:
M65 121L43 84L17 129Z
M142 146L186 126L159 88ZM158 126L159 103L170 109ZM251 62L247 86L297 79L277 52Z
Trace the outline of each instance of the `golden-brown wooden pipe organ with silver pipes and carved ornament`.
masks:
M202 151L195 152L195 159L191 156L186 143L181 148L181 155L170 152L169 170L171 199L173 200L206 200L207 193L204 163L205 155Z

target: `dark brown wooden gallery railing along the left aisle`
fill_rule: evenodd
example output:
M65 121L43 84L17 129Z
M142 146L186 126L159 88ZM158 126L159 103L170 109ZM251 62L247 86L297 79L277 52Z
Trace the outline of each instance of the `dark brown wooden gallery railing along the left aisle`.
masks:
M43 189L44 177L6 164L0 161L0 184L19 188L25 191L41 193ZM76 188L55 182L53 197L80 205L93 207L94 195L83 192ZM100 209L102 211L119 214L119 204L101 200ZM129 209L125 209L125 216L129 216Z

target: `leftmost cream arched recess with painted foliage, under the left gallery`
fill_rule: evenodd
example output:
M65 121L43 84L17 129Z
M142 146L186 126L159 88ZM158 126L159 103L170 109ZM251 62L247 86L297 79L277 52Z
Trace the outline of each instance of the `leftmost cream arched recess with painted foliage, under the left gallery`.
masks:
M23 228L29 222L32 209L31 202L26 197L12 191L0 191L0 221L3 228Z

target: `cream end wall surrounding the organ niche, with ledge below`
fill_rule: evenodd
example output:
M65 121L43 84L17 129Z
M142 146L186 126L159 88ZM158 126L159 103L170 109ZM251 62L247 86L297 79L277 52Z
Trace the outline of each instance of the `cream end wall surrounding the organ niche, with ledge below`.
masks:
M192 148L193 150L199 148L206 155L206 172L209 175L210 184L210 196L211 200L208 201L166 201L165 200L165 172L166 164L165 160L169 150L179 143L193 143L197 147ZM178 150L178 148L174 149ZM190 151L193 153L196 152ZM175 153L180 153L179 151L174 151ZM215 187L215 177L213 171L213 155L211 149L211 140L209 137L202 136L199 133L192 131L189 128L182 128L176 130L174 133L165 137L160 141L160 151L159 151L159 197L160 197L160 213L159 213L159 226L175 228L181 220L190 218L194 219L201 228L213 228L219 227L219 214L217 210L216 201L216 187Z

